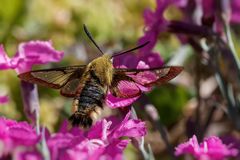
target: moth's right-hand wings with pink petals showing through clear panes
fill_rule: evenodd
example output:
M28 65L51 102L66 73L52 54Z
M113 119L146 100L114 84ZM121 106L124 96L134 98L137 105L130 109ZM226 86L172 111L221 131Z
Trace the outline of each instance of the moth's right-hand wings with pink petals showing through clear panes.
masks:
M110 92L120 98L139 96L142 90L162 85L176 77L182 70L183 68L178 66L149 69L115 68Z

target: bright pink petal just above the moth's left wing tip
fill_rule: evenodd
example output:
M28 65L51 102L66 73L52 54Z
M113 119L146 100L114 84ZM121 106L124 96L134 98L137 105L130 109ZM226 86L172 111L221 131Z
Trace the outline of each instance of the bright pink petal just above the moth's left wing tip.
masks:
M17 54L11 63L17 64L18 73L31 70L33 65L58 62L63 58L63 52L52 47L50 41L30 41L21 43Z

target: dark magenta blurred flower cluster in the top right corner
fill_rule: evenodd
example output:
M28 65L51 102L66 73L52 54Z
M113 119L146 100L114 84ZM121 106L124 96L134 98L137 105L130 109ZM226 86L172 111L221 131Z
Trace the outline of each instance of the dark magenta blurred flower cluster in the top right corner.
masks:
M168 25L171 24L164 17L164 12L169 6L177 7L182 13L181 21L189 22L191 24L201 24L203 19L208 19L208 24L214 23L217 32L222 33L223 25L221 24L220 15L231 24L240 23L240 1L239 0L156 0L156 9L154 11L146 9L144 11L144 20L146 32L140 38L140 43L150 41L150 45L145 47L142 51L148 52L155 47L158 36L161 32L169 29ZM194 11L197 12L195 13ZM178 28L176 28L178 29ZM179 28L181 29L181 28ZM193 30L194 31L194 30ZM189 31L191 33L191 31ZM185 38L179 35L181 42L185 43Z

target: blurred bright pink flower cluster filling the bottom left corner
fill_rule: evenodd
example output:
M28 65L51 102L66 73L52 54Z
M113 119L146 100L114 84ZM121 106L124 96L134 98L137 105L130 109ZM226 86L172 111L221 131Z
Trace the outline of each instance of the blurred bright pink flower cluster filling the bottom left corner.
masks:
M27 158L30 155L41 159L36 148L39 140L40 137L28 123L0 117L0 157L2 159L8 157L30 160Z

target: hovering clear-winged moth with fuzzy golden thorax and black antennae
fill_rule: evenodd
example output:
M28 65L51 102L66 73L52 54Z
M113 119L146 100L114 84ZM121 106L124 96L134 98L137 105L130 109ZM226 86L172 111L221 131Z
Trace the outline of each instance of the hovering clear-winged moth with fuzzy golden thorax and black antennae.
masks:
M142 94L137 85L140 82L136 81L133 78L134 76L147 72L153 74L154 80L140 84L151 87L168 82L183 69L179 66L149 69L114 68L112 64L114 57L144 47L148 42L109 56L102 52L85 25L83 28L89 39L102 53L102 56L87 65L35 70L18 75L23 81L60 89L61 95L73 98L74 113L69 118L73 126L90 127L96 114L100 114L108 91L115 97L120 98L131 98ZM125 87L134 86L134 92L124 92L121 89L124 85Z

